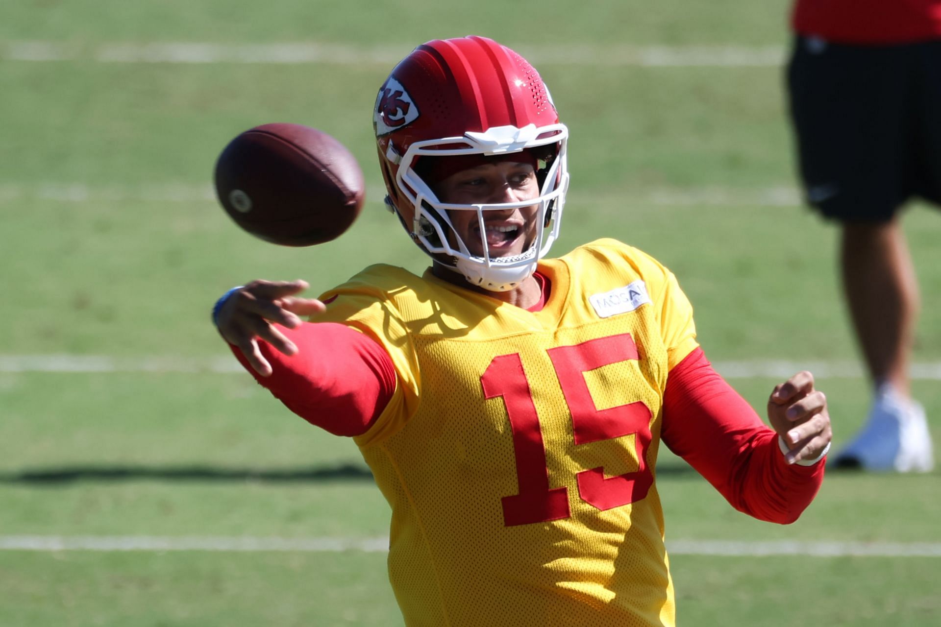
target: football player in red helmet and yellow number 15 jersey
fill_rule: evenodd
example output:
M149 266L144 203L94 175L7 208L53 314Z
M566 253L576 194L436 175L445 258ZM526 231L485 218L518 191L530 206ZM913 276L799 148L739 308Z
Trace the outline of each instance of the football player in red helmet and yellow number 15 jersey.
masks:
M376 265L319 299L254 281L216 304L222 337L297 415L359 446L391 506L407 625L674 624L661 444L734 508L793 522L831 438L813 377L774 388L768 427L655 259L611 239L548 257L568 132L512 50L419 46L374 120L389 208L431 267Z

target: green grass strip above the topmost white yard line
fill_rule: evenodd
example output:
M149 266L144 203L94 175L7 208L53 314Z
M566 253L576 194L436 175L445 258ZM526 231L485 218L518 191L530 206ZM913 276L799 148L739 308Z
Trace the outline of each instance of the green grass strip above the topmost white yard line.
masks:
M7 8L2 39L98 41L270 42L317 40L401 47L428 39L482 34L508 44L779 43L787 39L785 0L755 5L715 0L670 2L650 10L641 0L595 0L573 6L546 0L432 3L411 0L317 0L277 9L247 0L125 3L30 2ZM734 19L730 19L734 16ZM378 88L378 87L376 87Z

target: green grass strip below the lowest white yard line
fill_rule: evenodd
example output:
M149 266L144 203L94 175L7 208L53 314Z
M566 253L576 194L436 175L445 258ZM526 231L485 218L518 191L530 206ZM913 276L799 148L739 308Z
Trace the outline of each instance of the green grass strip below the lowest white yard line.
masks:
M678 620L923 627L941 612L935 561L675 556ZM783 570L800 576L782 581ZM380 554L21 553L0 564L0 601L17 600L11 625L401 625L384 579Z

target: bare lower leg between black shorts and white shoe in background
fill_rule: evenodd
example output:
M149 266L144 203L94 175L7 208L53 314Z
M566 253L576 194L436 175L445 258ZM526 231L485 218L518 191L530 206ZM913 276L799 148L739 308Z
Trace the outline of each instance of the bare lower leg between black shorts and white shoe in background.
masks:
M908 397L919 298L899 218L844 223L842 235L843 289L869 376Z

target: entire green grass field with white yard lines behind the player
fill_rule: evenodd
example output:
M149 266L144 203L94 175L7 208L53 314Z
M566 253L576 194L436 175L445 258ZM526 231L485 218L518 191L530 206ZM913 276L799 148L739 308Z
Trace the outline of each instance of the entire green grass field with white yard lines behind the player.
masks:
M780 49L783 59L783 0L547 0L538 9L286 0L277 10L79 0L2 14L3 627L402 624L381 551L14 550L10 539L388 533L388 506L352 443L312 429L247 374L216 371L215 360L231 361L208 318L217 294L253 277L307 278L316 290L380 260L422 270L382 208L368 112L391 68L384 59L426 39L479 33L532 56L571 131L572 187L554 252L612 236L661 259L694 304L710 358L752 360L756 374L732 380L745 398L763 405L776 382L758 371L772 360L824 372L855 363L835 231L800 206L794 186L780 68L631 60L696 47ZM25 60L16 51L26 43L47 59ZM320 62L293 64L146 62L128 52L156 43L332 47ZM103 51L116 49L124 52L107 60ZM219 149L268 121L323 128L359 156L367 205L336 242L261 243L215 204ZM915 357L937 364L941 219L915 206L905 226L924 301ZM76 361L91 357L100 359ZM914 385L941 444L936 371ZM820 386L838 445L864 419L868 384L823 376ZM938 471L831 473L787 527L733 511L665 453L658 482L668 546L896 547L884 556L678 551L681 626L941 624Z

